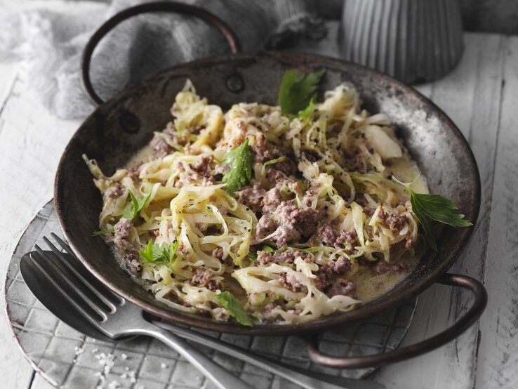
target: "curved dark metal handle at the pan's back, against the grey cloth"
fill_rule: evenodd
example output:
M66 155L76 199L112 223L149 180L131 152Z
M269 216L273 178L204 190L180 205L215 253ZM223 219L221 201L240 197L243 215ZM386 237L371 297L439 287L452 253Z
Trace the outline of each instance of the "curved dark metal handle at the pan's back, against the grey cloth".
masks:
M221 32L221 34L225 36L232 53L236 54L241 50L237 35L232 31L232 29L230 29L227 23L212 13L204 10L203 8L170 1L157 1L126 8L124 11L113 15L112 18L109 18L106 22L104 22L102 26L100 26L99 29L92 35L83 51L83 57L81 59L83 83L84 87L86 88L86 92L88 95L90 95L94 105L97 106L103 103L102 98L100 98L100 96L93 89L92 81L90 79L90 62L92 59L93 51L95 50L95 46L98 45L100 40L105 37L109 31L119 25L120 22L128 18L132 18L135 15L150 12L174 12L181 13L183 15L197 16L197 18L200 18L201 20L208 22L208 24L213 25L218 29L219 32Z

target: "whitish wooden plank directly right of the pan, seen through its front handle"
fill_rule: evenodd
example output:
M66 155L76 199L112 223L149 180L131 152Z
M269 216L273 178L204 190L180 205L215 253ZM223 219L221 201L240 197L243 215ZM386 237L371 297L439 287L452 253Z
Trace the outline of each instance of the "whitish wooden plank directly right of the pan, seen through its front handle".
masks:
M423 92L456 122L470 140L482 177L479 223L464 256L452 272L482 279L486 251L493 159L502 78L503 38L469 34L458 67ZM420 88L421 89L421 88ZM493 128L493 131L489 131ZM416 317L405 344L422 340L452 324L469 306L471 296L446 286L432 286L420 296ZM382 369L377 379L388 388L472 388L474 385L477 326L438 350Z

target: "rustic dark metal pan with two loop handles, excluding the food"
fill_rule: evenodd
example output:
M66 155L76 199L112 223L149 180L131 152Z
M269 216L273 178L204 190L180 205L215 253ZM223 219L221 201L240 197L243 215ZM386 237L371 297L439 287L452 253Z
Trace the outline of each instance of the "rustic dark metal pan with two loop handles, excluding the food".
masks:
M107 102L95 93L88 72L95 45L122 20L148 11L174 11L197 15L222 32L232 54L196 60L165 70L126 88ZM152 3L128 8L105 22L88 42L83 59L86 90L99 107L79 127L62 155L55 178L55 209L62 232L77 256L93 274L124 298L164 319L195 327L234 334L281 335L316 333L328 327L357 322L413 298L434 282L470 289L474 304L456 324L434 336L406 348L355 358L322 355L312 343L308 352L313 360L336 367L364 367L396 362L439 347L458 336L482 314L487 297L482 284L463 275L445 274L465 248L473 228L444 228L438 239L439 251L428 251L409 277L376 301L352 312L324 317L306 324L255 325L217 322L213 319L178 312L159 303L152 294L135 284L119 268L109 247L100 237L92 237L98 228L101 196L93 185L91 173L81 154L98 160L107 174L114 172L171 120L169 109L175 93L190 78L200 95L210 102L230 107L239 101L275 104L277 90L285 70L303 72L326 70L323 90L347 81L361 93L364 107L385 112L397 126L419 168L427 177L431 192L451 198L467 219L475 222L479 213L480 181L477 164L462 133L451 119L423 95L409 86L366 67L343 60L301 53L238 53L239 44L224 22L210 13L175 3Z

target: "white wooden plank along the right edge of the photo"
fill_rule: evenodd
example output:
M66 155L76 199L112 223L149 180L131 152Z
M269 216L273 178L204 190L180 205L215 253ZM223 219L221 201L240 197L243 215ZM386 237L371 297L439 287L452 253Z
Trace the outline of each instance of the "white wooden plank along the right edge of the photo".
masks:
M518 37L508 39L505 54L477 388L518 388Z

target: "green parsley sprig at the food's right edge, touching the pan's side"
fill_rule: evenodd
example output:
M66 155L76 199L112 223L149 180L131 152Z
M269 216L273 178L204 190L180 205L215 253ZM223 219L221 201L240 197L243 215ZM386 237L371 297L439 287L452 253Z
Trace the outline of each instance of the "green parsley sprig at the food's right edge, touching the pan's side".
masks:
M440 194L421 194L414 192L410 183L401 183L394 176L392 180L403 185L406 191L410 194L410 202L412 204L412 211L416 213L420 225L425 230L428 244L437 251L437 242L435 242L434 230L432 227L433 221L451 225L452 227L470 227L473 225L470 220L466 220L462 213L459 213L458 206L450 199L441 196Z

